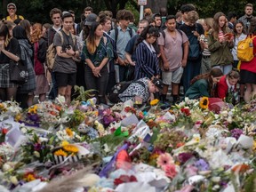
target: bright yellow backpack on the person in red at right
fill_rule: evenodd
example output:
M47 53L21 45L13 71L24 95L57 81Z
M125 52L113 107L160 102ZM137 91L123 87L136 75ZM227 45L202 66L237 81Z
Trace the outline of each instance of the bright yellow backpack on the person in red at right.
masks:
M237 58L241 61L251 61L254 58L253 39L256 36L247 36L244 40L239 41L237 45Z

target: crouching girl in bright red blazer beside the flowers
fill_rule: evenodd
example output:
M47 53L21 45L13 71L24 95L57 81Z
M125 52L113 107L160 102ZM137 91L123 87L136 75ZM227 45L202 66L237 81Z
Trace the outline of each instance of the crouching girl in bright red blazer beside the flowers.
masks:
M228 75L222 76L220 82L218 83L218 96L220 99L228 97L228 94L236 92L236 84L240 78L237 69L232 69Z

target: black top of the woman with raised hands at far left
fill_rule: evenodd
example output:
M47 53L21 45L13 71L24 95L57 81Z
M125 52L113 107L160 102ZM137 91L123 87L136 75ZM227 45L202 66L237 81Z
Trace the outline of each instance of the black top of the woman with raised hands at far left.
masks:
M8 52L12 52L13 54L20 56L20 45L16 38L12 37L7 47L5 47L5 50ZM7 57L4 52L0 53L0 64L9 63L10 58Z

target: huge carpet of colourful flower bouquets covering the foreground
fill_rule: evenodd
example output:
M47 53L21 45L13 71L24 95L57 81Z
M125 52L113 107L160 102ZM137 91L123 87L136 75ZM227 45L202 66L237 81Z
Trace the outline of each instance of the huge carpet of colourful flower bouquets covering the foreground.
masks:
M256 188L256 100L96 101L0 103L0 191Z

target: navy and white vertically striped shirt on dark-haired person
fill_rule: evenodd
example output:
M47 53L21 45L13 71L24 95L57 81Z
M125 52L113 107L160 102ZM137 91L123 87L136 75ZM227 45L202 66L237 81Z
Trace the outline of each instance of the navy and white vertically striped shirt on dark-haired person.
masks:
M152 47L151 50L149 49L149 46ZM152 76L160 75L159 62L152 44L147 44L146 41L138 44L136 48L136 57L137 63L135 65L134 79L143 77L151 78Z

